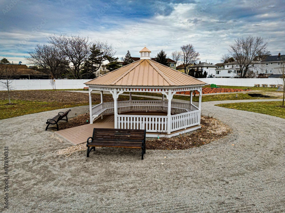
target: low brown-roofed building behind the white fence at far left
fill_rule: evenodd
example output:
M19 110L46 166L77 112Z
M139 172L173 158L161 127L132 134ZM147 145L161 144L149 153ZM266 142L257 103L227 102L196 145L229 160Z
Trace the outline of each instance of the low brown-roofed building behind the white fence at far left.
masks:
M13 79L48 79L48 75L40 72L35 67L30 67L28 68L28 66L26 64L0 64L0 69L3 66L9 66L9 68L11 69L15 69L17 75L13 76ZM0 79L3 79L5 77L0 76Z

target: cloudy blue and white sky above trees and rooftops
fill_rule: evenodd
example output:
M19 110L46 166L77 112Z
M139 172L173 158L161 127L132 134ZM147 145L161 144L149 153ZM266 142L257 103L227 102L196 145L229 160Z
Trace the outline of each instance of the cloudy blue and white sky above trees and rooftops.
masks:
M202 62L217 63L236 38L262 36L272 55L285 53L284 0L0 0L0 58L24 56L49 34L79 34L113 43L116 56L168 57L192 43Z

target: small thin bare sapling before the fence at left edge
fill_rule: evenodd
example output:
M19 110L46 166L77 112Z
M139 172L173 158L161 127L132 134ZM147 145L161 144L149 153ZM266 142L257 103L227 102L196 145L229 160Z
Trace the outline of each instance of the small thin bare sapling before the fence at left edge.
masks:
M19 75L18 69L16 68L16 66L10 64L10 62L6 64L2 63L0 64L0 79L3 79L0 80L0 83L8 91L9 104L11 104L10 91L14 89L14 87L12 86L12 82L15 76L18 75Z

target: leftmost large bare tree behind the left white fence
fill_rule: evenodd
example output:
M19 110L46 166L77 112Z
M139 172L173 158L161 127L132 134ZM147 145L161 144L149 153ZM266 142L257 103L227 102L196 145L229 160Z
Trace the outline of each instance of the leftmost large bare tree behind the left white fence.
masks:
M53 45L37 44L34 51L28 54L30 57L25 57L28 63L40 68L51 79L59 78L67 64L64 53Z

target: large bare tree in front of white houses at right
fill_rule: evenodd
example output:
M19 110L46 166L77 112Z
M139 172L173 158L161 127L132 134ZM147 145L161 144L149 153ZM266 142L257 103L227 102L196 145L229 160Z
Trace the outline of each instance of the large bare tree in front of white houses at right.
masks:
M263 37L253 37L249 35L246 38L235 40L235 44L230 45L229 54L238 64L241 78L246 78L249 71L257 63L255 59L264 59L269 51L267 50L268 43L264 43Z

